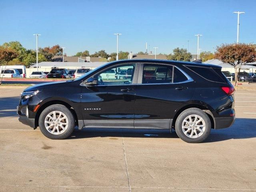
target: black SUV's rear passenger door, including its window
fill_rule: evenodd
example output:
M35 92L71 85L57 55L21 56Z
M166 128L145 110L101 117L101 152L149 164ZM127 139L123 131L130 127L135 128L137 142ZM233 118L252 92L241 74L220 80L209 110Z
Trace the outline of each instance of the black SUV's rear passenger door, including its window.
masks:
M170 64L141 64L134 104L135 128L169 129L174 112L192 97L194 81Z

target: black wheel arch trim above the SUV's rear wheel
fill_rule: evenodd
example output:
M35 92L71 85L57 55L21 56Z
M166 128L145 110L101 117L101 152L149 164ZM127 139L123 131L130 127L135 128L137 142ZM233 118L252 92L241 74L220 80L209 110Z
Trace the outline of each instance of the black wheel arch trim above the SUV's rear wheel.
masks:
M206 108L205 106L200 105L200 104L188 104L188 105L180 108L174 115L174 118L172 120L172 128L175 128L176 120L177 120L178 116L181 114L181 112L183 112L184 110L189 109L189 108L198 108L198 109L204 111L210 118L210 121L212 124L212 129L215 128L215 120L214 120L214 116L213 116L212 112L208 108Z

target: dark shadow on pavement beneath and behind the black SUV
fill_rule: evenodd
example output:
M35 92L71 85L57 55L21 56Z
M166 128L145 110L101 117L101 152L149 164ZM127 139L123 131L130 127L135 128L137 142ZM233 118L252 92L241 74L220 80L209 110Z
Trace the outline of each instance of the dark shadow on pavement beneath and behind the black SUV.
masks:
M211 130L210 136L204 141L219 142L230 139L256 138L256 119L236 118L230 128ZM94 137L131 137L131 138L178 138L174 130L152 129L116 129L116 128L84 128L76 129L68 139L82 139Z

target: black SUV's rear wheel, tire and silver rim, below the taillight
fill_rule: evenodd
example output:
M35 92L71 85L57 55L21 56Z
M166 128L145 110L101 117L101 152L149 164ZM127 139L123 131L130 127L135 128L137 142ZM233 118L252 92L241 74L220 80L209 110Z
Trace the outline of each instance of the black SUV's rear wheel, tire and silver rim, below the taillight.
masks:
M188 143L200 143L211 132L211 121L208 115L198 109L184 110L177 118L175 130L179 138Z

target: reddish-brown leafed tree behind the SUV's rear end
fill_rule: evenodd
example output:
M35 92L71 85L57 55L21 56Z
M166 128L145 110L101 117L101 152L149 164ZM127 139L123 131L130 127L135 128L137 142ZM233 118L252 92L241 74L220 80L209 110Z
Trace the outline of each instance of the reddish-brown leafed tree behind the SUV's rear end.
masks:
M256 61L256 51L247 44L222 44L217 46L215 58L230 64L235 69L235 86L242 65Z

